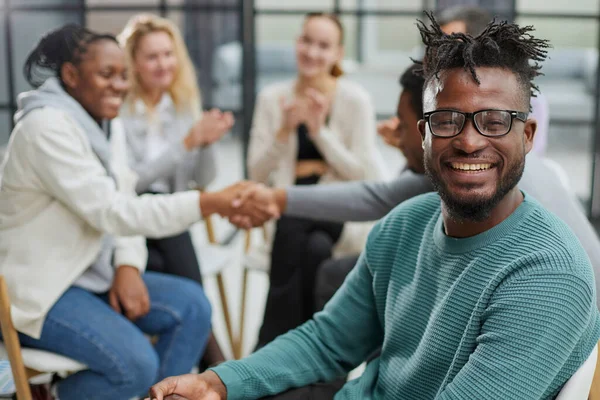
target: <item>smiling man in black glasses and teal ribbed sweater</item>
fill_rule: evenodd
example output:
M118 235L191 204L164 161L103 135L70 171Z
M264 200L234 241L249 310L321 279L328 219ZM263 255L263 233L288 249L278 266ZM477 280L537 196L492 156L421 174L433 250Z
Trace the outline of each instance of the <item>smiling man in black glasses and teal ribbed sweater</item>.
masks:
M548 43L499 23L463 40L428 16L418 126L437 193L376 225L311 321L244 360L168 378L152 399L330 399L315 384L378 347L335 399L552 399L589 356L600 337L589 259L517 186L536 128L527 118L535 62Z

